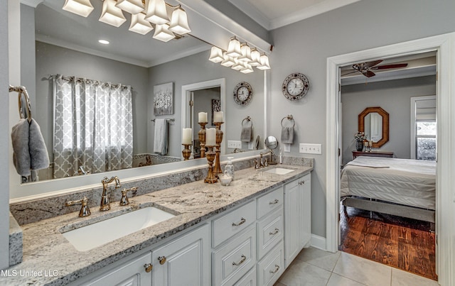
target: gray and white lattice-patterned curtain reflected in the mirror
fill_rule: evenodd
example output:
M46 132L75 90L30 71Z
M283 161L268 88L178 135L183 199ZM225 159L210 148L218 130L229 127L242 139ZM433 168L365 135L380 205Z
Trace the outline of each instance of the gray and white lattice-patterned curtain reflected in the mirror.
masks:
M131 87L89 79L53 79L54 178L132 167Z

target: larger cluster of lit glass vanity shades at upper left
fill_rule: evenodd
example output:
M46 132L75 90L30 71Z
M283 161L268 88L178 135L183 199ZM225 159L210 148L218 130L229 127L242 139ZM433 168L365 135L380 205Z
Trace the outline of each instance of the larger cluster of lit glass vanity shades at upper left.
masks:
M63 10L87 17L92 13L90 0L65 0ZM129 31L146 35L155 29L153 38L167 42L190 33L188 16L181 5L172 6L164 0L104 0L100 21L114 27L127 21L123 12L131 13Z

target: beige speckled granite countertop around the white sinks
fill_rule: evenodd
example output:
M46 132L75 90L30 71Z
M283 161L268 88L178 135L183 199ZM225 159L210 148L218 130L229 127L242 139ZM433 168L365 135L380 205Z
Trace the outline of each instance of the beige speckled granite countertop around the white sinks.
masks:
M235 180L229 186L221 186L219 182L205 184L200 180L130 197L130 204L126 207L111 202L109 211L92 208L92 214L85 218L73 212L24 224L21 226L23 262L8 268L9 272L1 275L0 284L67 284L312 170L312 167L297 165L278 166L295 171L275 175L264 171L276 165L261 170L248 168L235 172ZM149 206L164 209L176 216L85 252L77 251L61 233L63 229L76 229Z

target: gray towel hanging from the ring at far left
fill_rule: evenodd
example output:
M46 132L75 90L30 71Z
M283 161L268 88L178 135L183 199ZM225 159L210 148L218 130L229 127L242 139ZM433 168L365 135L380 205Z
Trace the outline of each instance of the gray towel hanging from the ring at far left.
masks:
M43 135L34 119L29 124L27 119L20 119L11 131L13 143L13 162L21 176L31 175L31 170L49 167L48 150Z

